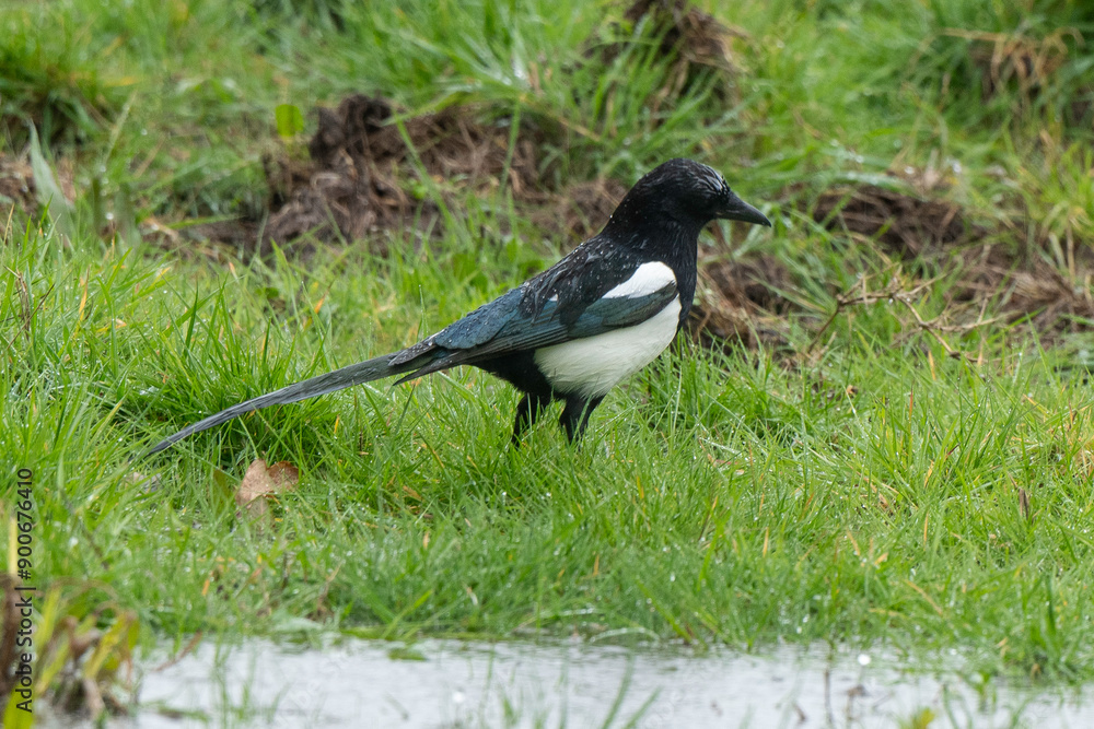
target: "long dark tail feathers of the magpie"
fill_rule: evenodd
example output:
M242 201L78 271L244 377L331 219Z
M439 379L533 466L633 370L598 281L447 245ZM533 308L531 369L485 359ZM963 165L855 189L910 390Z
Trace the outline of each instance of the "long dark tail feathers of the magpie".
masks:
M189 435L198 433L199 431L205 431L206 428L210 428L214 425L220 425L221 423L228 422L233 418L237 418L253 410L260 410L261 408L268 408L269 405L288 404L290 402L306 400L307 398L326 395L327 392L341 390L347 387L352 387L353 385L370 383L374 379L383 379L384 377L391 377L392 375L399 375L405 372L418 369L422 365L420 358L416 358L393 367L387 364L392 356L392 354L385 354L372 360L365 360L364 362L358 362L357 364L342 367L341 369L335 369L334 372L328 372L325 375L312 377L311 379L305 379L302 383L282 387L280 390L267 392L266 395L260 395L257 398L247 400L246 402L232 405L228 410L222 410L216 415L209 415L205 420L200 420L193 425L187 425L178 433L167 436L160 443L152 446L152 448L144 454L144 456L158 454L164 448L170 448Z

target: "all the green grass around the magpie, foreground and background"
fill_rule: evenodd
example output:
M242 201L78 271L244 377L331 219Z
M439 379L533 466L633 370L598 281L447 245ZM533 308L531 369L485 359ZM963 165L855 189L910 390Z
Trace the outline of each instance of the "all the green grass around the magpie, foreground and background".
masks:
M49 129L79 192L71 237L15 215L0 248L0 462L35 473L37 579L98 586L147 638L179 645L306 616L388 638L885 642L956 648L985 674L1091 680L1086 371L1002 321L943 334L979 363L947 357L884 301L841 311L815 344L836 292L901 274L801 212L831 183L934 165L1001 244L1089 287L1073 259L1094 234L1090 125L1061 110L1091 93L1089 50L1067 46L1038 94L970 103L952 79L976 68L942 31L1046 37L1091 19L1067 2L1026 3L1038 14L1024 25L994 2L952 16L895 4L735 3L740 101L700 75L653 117L671 70L653 39L607 64L582 55L594 28L630 37L605 5L0 5L0 69L25 71L0 111ZM1054 10L1070 14L1049 25ZM533 68L567 81L537 87ZM392 233L387 258L353 243L225 266L100 237L103 205L133 222L260 211L275 106L353 90L519 114L549 131L551 185L632 181L678 154L715 164L777 221L719 255L767 251L794 272L789 343L682 340L609 396L580 448L549 420L508 447L514 393L459 369L261 411L132 460L205 414L412 343L573 243L540 238L504 193L457 200L420 249ZM0 151L22 149L19 129ZM915 302L924 319L957 277ZM270 528L232 499L256 457L301 469ZM95 595L73 590L72 610Z

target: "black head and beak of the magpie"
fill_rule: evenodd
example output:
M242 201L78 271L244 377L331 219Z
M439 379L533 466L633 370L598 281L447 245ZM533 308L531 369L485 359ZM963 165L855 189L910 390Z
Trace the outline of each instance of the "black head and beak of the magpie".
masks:
M771 225L738 198L718 172L693 160L670 160L647 173L619 203L617 214L642 210L702 227L715 219Z

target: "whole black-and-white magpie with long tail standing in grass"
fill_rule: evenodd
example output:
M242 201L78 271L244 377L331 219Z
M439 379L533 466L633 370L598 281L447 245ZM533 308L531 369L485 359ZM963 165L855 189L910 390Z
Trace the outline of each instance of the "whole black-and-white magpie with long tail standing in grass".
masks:
M232 405L148 455L253 410L403 375L398 385L456 365L485 369L523 393L514 445L555 400L565 403L559 424L572 443L608 390L652 362L684 326L699 232L715 219L771 225L714 169L670 160L638 180L597 235L455 324L405 350Z

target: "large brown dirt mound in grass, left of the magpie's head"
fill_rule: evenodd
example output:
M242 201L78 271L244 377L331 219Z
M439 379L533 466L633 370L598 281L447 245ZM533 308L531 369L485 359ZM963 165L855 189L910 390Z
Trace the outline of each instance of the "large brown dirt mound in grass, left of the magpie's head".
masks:
M383 98L354 94L337 109L319 108L318 129L307 145L310 162L267 160L277 203L263 235L300 252L310 240L353 240L418 217L433 226L435 203L407 192L410 183L447 191L484 190L507 184L521 200L543 197L537 150L529 126L510 152L507 122L481 120L479 109L453 106L395 124L397 109ZM504 183L501 177L505 176Z

